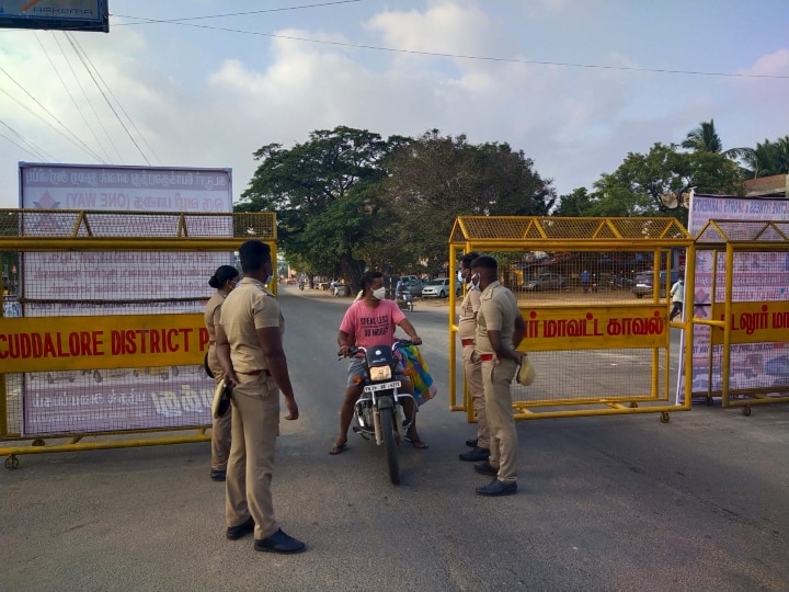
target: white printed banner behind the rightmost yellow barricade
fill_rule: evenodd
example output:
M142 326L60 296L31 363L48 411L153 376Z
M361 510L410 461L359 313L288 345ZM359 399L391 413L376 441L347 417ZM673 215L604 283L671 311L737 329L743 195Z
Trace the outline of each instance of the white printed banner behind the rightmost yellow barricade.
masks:
M694 195L688 231L698 236L709 220L787 221L786 198ZM786 310L789 300L789 253L735 252L732 292L732 345L729 384L732 389L789 386ZM697 244L696 292L688 294L684 316L724 320L725 257ZM714 284L714 285L713 285ZM714 298L712 295L714 294ZM714 300L714 306L712 301ZM696 325L693 348L693 392L707 396L722 388L723 331ZM677 401L684 399L684 356L679 358Z

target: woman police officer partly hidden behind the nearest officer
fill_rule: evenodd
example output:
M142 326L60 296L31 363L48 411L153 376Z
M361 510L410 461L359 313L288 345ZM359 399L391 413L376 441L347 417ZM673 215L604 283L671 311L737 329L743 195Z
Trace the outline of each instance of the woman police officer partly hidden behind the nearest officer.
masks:
M225 298L239 283L239 273L232 265L219 265L208 280L208 285L216 288L214 295L206 304L204 322L208 331L208 369L214 375L215 386L225 380L219 358L216 354L216 326L219 325L219 315ZM211 423L211 480L224 481L227 474L227 459L230 455L230 418L225 413L221 418L214 418Z

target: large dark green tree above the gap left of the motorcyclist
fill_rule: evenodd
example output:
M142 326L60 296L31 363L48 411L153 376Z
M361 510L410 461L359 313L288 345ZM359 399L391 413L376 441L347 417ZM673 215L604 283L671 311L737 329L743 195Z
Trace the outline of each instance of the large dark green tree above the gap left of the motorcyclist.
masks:
M289 149L263 146L254 152L261 163L236 209L276 212L285 252L315 272L358 286L364 263L354 249L376 209L369 189L386 177L384 157L404 141L340 126L315 130Z

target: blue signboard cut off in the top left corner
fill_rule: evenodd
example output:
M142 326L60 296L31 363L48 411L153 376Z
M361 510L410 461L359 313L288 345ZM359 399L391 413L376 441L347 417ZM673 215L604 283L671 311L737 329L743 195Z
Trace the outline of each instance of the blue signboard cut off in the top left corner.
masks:
M0 27L110 33L107 0L0 0Z

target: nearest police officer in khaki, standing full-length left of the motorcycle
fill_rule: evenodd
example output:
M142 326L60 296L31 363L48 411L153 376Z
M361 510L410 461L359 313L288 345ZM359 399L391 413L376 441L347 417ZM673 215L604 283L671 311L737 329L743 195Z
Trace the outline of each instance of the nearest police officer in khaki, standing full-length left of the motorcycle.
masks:
M287 360L284 319L274 294L271 249L259 240L239 248L244 277L228 294L217 327L217 355L232 386L232 444L227 467L225 517L231 540L254 531L254 549L293 554L305 544L285 534L274 517L271 481L279 430L279 390L288 415L298 419Z

